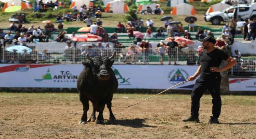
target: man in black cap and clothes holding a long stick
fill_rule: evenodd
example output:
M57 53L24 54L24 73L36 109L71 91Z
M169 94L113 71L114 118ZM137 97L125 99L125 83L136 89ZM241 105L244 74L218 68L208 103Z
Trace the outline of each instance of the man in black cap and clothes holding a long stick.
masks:
M221 114L221 74L220 72L226 71L235 64L236 60L227 55L225 52L216 49L214 44L216 40L213 37L205 37L200 39L202 42L203 51L200 53L200 66L193 76L187 78L188 81L195 80L199 75L200 77L196 80L196 84L191 92L191 112L190 117L184 119L184 122L193 121L199 122L199 102L203 95L203 92L208 90L212 96L212 114L209 123L218 124L218 118ZM219 65L225 60L227 64L221 68Z

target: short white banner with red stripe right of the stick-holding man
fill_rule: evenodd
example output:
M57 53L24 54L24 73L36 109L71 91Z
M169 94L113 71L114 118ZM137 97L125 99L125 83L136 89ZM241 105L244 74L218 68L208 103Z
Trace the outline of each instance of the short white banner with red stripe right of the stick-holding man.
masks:
M229 91L256 91L256 78L229 78Z

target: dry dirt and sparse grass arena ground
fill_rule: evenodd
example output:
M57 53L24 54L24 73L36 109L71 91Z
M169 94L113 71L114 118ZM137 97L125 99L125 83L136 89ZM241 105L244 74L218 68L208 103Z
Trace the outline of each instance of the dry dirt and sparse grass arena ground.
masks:
M190 114L189 95L114 94L117 119L104 124L77 125L83 110L78 94L0 93L0 139L60 138L241 138L256 139L256 96L222 96L221 124L208 124L211 96L200 103L200 123L182 122ZM91 114L90 110L87 116ZM96 113L98 115L98 113Z

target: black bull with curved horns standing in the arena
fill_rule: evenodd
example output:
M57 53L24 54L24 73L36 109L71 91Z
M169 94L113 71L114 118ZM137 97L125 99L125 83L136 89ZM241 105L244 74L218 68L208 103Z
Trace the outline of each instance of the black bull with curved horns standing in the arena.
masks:
M82 62L85 67L77 79L77 91L84 111L79 124L94 122L96 111L99 112L96 123L104 123L103 110L105 104L109 109L109 120L116 120L111 110L113 93L116 92L118 87L117 79L111 68L115 56L116 52L110 58L105 56L91 58L89 53L86 54L87 60ZM89 101L93 103L93 113L87 120Z

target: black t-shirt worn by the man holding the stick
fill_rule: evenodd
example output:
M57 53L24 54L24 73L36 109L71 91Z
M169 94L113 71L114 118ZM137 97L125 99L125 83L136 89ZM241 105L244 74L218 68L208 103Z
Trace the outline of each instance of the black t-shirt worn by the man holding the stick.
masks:
M206 78L221 76L219 72L211 72L210 67L219 67L222 60L227 60L228 58L229 58L229 55L227 55L225 52L217 48L210 53L207 53L206 50L203 50L200 53L200 61L201 61L200 78L206 79Z

